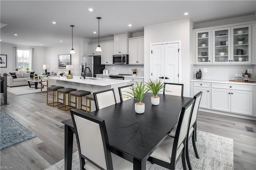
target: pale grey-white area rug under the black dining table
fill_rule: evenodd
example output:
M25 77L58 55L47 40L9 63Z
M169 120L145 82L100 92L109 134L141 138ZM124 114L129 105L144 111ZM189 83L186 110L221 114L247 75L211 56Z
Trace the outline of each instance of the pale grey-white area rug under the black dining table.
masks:
M193 170L233 170L233 139L218 136L198 130L198 140L196 146L200 159L197 159L193 146L192 140L189 142L189 155L190 162ZM78 151L73 153L72 157L72 170L80 169L80 162ZM151 164L146 162L147 170L167 170L162 166ZM182 170L182 162L179 160L176 165L177 170ZM46 170L64 170L64 159L60 160L56 164L48 167Z

